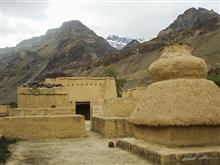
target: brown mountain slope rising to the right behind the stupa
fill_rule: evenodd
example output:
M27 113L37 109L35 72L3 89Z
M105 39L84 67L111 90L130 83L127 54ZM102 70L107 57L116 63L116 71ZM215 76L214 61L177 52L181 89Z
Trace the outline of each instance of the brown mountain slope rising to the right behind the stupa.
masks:
M172 30L165 33L170 27ZM191 8L151 41L100 58L88 66L88 70L75 70L74 75L100 76L104 67L112 67L127 80L125 88L146 86L151 82L147 68L159 58L160 49L172 42L190 44L194 48L192 54L205 59L209 70L220 68L220 17L213 10Z

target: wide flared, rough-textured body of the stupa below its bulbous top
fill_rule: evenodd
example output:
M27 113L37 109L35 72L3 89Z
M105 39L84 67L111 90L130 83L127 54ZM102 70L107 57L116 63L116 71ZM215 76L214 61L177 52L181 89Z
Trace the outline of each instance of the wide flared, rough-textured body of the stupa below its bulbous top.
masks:
M179 78L153 83L130 121L149 126L219 125L219 88L206 79Z

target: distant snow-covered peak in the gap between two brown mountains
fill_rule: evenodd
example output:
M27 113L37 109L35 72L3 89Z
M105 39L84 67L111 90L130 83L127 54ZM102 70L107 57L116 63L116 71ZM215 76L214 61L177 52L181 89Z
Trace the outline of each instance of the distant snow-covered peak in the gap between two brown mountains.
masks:
M119 37L117 35L109 35L106 40L112 47L116 48L117 50L122 49L132 40L139 40L138 42L144 41L144 39L136 39L134 37Z

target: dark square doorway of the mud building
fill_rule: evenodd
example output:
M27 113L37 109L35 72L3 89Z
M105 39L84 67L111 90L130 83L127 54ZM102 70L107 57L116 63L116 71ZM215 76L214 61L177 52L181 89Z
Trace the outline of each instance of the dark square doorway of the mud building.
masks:
M90 120L90 102L76 102L76 114L85 116Z

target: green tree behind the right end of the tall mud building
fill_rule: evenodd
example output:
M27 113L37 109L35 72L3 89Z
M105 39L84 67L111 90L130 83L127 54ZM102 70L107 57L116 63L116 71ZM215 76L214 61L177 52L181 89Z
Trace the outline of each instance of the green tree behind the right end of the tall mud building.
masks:
M113 77L115 79L117 94L118 97L121 97L124 84L126 83L126 79L120 78L119 73L112 67L104 68L103 73L105 74L105 76Z

